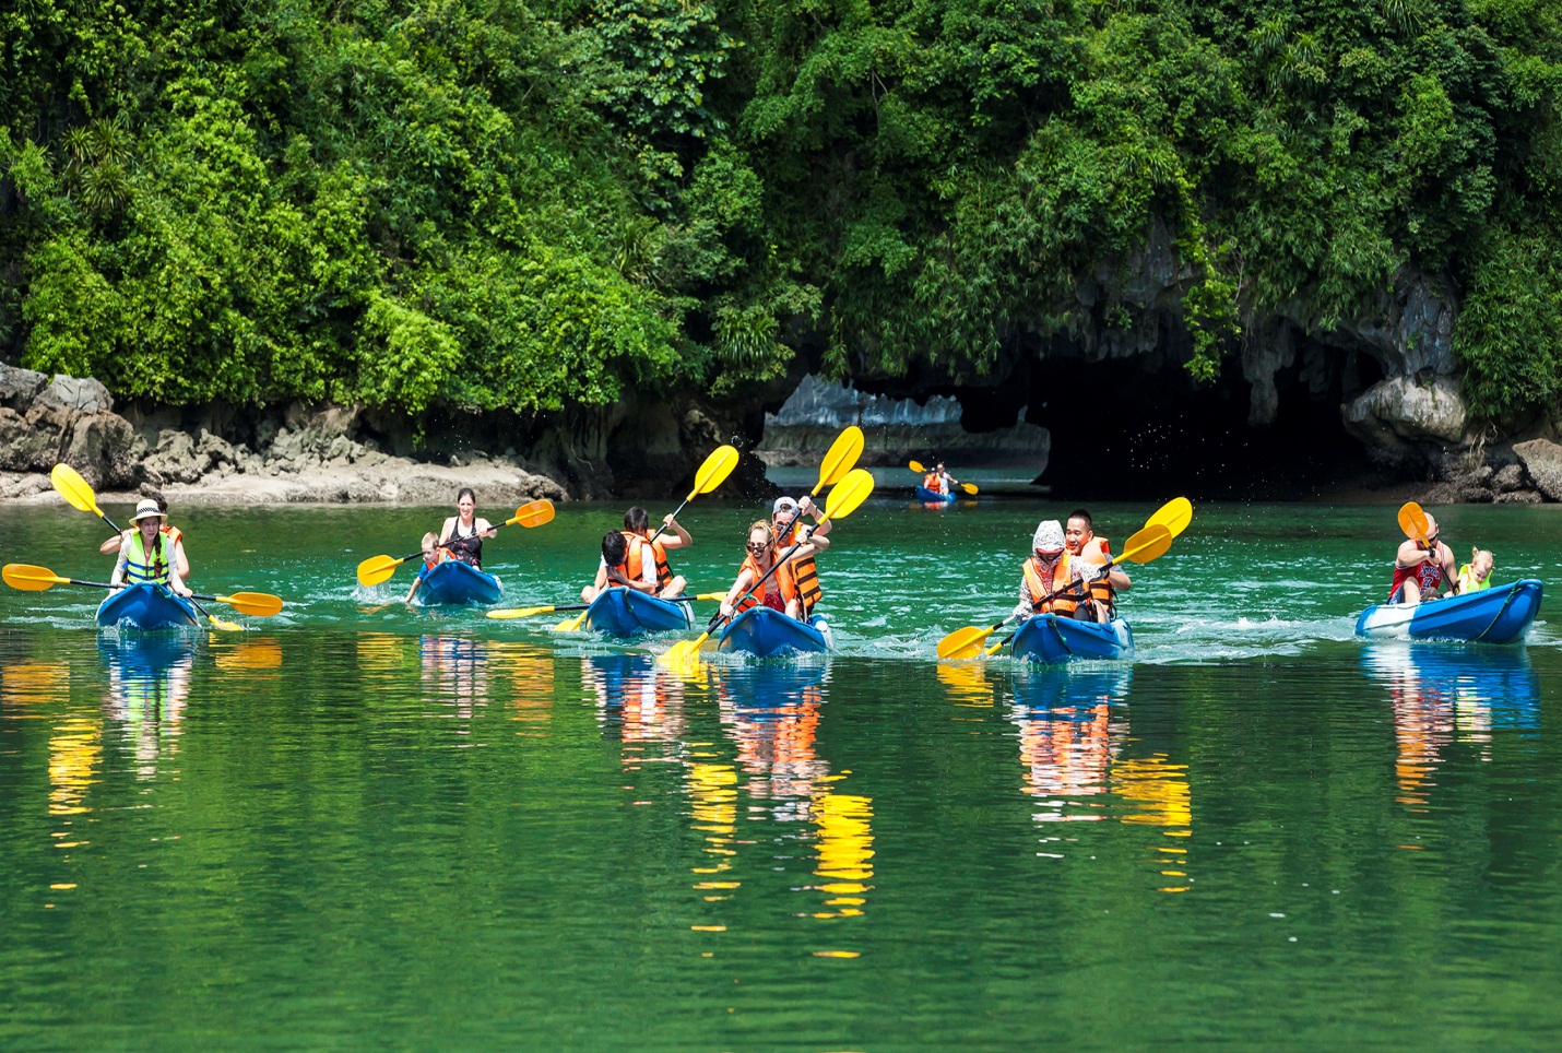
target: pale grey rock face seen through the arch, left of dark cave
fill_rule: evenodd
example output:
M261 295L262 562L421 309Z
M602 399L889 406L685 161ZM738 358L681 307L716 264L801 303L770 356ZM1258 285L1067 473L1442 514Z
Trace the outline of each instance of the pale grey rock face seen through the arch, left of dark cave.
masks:
M754 453L767 464L815 464L847 425L865 437L862 464L901 464L908 458L1025 461L1036 472L1047 467L1051 436L1026 423L1025 409L1012 428L970 433L961 427L961 405L934 395L925 405L911 398L864 394L808 375L779 411L765 414L764 441Z

